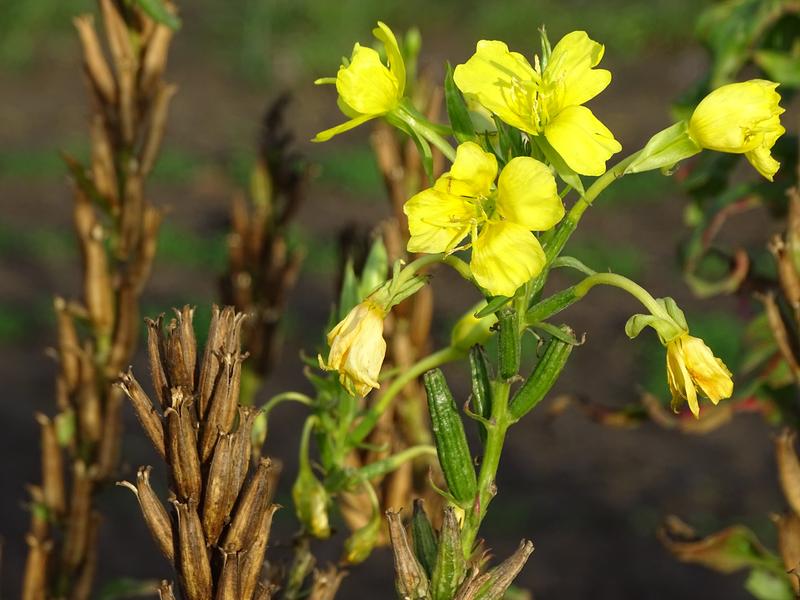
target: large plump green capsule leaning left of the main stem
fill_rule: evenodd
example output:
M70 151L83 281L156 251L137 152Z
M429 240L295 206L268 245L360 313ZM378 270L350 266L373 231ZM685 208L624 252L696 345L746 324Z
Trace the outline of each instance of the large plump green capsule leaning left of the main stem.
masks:
M444 479L453 498L466 507L475 499L478 482L461 415L439 369L425 373L423 381Z

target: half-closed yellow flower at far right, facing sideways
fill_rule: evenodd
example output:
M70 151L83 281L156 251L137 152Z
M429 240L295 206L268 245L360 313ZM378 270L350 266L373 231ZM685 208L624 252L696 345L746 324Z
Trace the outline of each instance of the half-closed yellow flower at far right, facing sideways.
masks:
M786 131L780 122L777 83L751 79L723 85L700 101L689 120L689 135L703 148L744 154L772 181L780 163L770 150Z

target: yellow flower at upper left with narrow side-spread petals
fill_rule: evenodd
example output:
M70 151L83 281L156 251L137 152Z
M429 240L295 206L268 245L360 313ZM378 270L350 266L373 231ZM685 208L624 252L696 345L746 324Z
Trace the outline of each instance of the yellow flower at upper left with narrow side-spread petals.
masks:
M372 34L383 43L389 65L381 62L380 54L372 48L356 44L348 65L339 67L336 77L317 79L317 85L335 83L339 93L339 109L349 121L319 132L313 139L324 142L362 123L385 115L397 108L406 85L406 67L397 39L384 23Z

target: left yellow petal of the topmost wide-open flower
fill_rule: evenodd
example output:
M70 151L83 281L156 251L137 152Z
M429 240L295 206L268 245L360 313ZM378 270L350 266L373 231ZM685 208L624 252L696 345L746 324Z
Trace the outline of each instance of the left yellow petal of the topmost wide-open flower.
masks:
M536 133L534 100L539 76L524 56L510 52L503 42L478 42L475 54L455 68L453 80L462 92L475 96L509 125Z

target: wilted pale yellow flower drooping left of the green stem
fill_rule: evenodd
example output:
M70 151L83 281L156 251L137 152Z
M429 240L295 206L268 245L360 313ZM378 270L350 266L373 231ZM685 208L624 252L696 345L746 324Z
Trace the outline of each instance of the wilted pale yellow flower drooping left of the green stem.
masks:
M331 351L327 364L320 357L320 366L328 371L339 371L339 381L351 393L366 396L372 388L380 387L378 375L386 356L385 316L386 311L381 306L367 299L328 333Z

